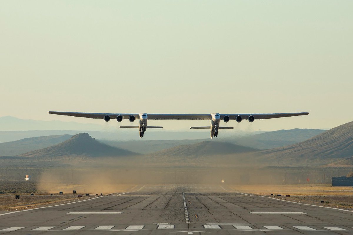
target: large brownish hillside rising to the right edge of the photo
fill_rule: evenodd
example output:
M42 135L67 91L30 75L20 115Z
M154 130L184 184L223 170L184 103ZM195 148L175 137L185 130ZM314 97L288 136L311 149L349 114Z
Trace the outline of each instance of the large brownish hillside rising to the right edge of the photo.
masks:
M353 122L323 132L307 141L261 152L280 165L327 165L353 156Z

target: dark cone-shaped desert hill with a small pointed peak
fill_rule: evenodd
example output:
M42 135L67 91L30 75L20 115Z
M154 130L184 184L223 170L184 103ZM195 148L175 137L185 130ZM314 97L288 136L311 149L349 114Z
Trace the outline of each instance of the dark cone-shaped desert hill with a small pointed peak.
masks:
M100 143L87 133L80 133L72 136L69 140L60 144L50 146L48 148L39 149L25 153L19 156L36 157L36 158L50 158L58 156L129 156L137 155L128 150L115 148L106 144Z

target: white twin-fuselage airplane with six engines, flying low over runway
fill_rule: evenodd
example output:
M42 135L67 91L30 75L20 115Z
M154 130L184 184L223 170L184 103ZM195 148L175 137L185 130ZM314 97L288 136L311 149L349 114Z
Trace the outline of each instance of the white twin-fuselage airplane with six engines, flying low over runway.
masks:
M109 122L110 119L116 119L121 122L123 119L128 119L130 122L134 120L139 120L138 126L120 126L120 128L138 128L140 132L140 138L143 137L144 132L148 128L162 128L162 126L148 126L147 120L211 120L210 126L193 126L191 129L210 129L211 139L218 136L219 129L233 129L233 127L220 126L220 121L229 122L229 120L236 120L241 122L241 120L246 119L249 122L253 122L255 119L270 119L270 118L280 118L280 117L292 117L308 115L308 112L301 113L258 113L258 114L147 114L147 113L77 113L77 112L55 112L49 111L51 114L66 115L73 117L85 117L85 118L98 118L104 119Z

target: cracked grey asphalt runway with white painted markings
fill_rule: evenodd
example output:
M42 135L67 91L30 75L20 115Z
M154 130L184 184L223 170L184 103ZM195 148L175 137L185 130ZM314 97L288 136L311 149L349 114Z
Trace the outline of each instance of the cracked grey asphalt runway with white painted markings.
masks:
M353 234L353 212L229 192L138 186L78 203L0 212L0 234Z

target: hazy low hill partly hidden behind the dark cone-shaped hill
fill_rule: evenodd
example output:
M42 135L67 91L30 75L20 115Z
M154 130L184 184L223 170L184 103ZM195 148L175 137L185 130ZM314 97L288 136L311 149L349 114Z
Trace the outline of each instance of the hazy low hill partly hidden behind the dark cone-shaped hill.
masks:
M64 142L71 137L72 135L38 136L0 143L0 156L16 156L29 151L47 148Z

